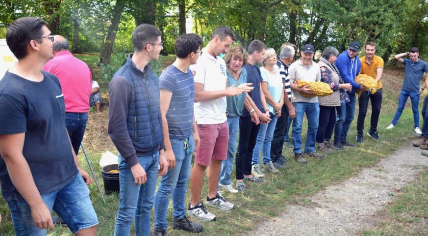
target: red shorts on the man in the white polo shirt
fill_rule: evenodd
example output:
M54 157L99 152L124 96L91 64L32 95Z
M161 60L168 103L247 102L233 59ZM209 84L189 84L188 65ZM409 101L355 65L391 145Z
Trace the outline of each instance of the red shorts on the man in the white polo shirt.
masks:
M209 166L211 160L226 160L228 157L228 122L215 125L197 125L200 144L195 152L195 163Z

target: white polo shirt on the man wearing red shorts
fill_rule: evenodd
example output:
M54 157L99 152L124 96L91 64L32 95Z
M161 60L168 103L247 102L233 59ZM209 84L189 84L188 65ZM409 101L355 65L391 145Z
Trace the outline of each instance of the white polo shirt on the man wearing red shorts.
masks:
M212 56L202 49L195 65L195 83L204 84L204 91L219 91L226 89L228 76L226 75L226 63L219 56ZM226 97L212 101L197 102L194 106L196 124L222 124L226 117Z

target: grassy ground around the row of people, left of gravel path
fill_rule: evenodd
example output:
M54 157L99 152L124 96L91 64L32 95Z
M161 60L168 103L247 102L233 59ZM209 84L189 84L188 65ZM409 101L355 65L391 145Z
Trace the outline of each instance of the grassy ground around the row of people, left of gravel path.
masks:
M162 61L164 60L164 61ZM161 64L172 63L173 57L161 57ZM163 65L165 66L165 65ZM326 186L340 183L346 178L355 176L365 167L376 164L381 158L393 153L401 145L405 145L409 140L416 137L413 131L413 115L411 109L406 108L401 116L397 126L390 131L385 127L389 125L394 115L400 84L402 81L402 71L388 69L384 76L384 102L379 121L380 141L375 142L365 136L365 142L356 149L348 149L343 152L336 152L329 155L325 160L310 159L308 165L302 166L292 161L292 151L284 150L285 156L290 159L287 168L278 175L267 174L264 184L247 184L247 192L244 194L225 193L225 197L236 204L235 209L229 212L209 208L209 211L217 216L213 222L203 223L205 230L199 235L241 235L247 230L254 229L265 219L270 219L280 214L287 204L311 204L308 197L322 190ZM422 97L422 96L421 96ZM422 99L421 99L422 100ZM422 104L420 104L422 105ZM356 115L358 114L358 108ZM90 119L97 123L107 124L107 120L99 120L101 116L90 113ZM98 119L98 120L97 120ZM370 122L370 105L366 117L366 129ZM307 122L304 122L303 138L306 136ZM91 127L88 127L91 129ZM107 136L107 134L105 134ZM350 141L355 141L356 136L356 117L352 123L348 137ZM84 140L85 142L85 140ZM88 147L87 147L88 148ZM100 176L100 167L97 164L106 147L87 150L92 166L98 181L102 185ZM114 150L110 150L114 151ZM89 170L83 153L80 153L79 160L81 165ZM234 178L234 171L232 173ZM426 182L426 175L422 178ZM91 199L98 215L98 235L113 235L115 217L117 213L118 196L106 196L104 204L97 192L96 186L90 187ZM426 189L426 187L425 187ZM207 181L205 179L201 198L207 194ZM186 202L189 202L189 194L186 196ZM421 202L422 201L418 201ZM422 209L428 208L428 204L420 205ZM0 227L0 235L10 235L13 233L13 226L8 214L6 202L0 199L0 213L3 216L3 222ZM172 218L172 206L169 205L168 223ZM195 220L194 218L191 218ZM197 220L195 220L197 221ZM153 221L152 221L153 227ZM48 235L71 235L67 228L56 227ZM191 235L183 231L168 229L168 235Z

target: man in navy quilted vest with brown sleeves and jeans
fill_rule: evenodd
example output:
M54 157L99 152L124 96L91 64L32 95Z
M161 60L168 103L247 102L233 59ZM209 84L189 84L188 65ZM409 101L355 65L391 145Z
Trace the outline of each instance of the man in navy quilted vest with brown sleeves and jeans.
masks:
M149 63L158 60L162 33L151 24L132 34L134 53L109 85L109 135L119 151L119 210L114 234L150 234L150 212L157 176L168 169L162 134L158 76Z

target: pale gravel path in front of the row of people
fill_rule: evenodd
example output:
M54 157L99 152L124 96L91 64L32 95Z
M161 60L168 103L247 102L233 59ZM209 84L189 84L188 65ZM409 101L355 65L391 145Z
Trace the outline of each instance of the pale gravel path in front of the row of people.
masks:
M311 206L288 205L283 214L246 235L343 236L369 229L371 216L428 166L428 157L420 151L409 143L354 178L310 197Z

